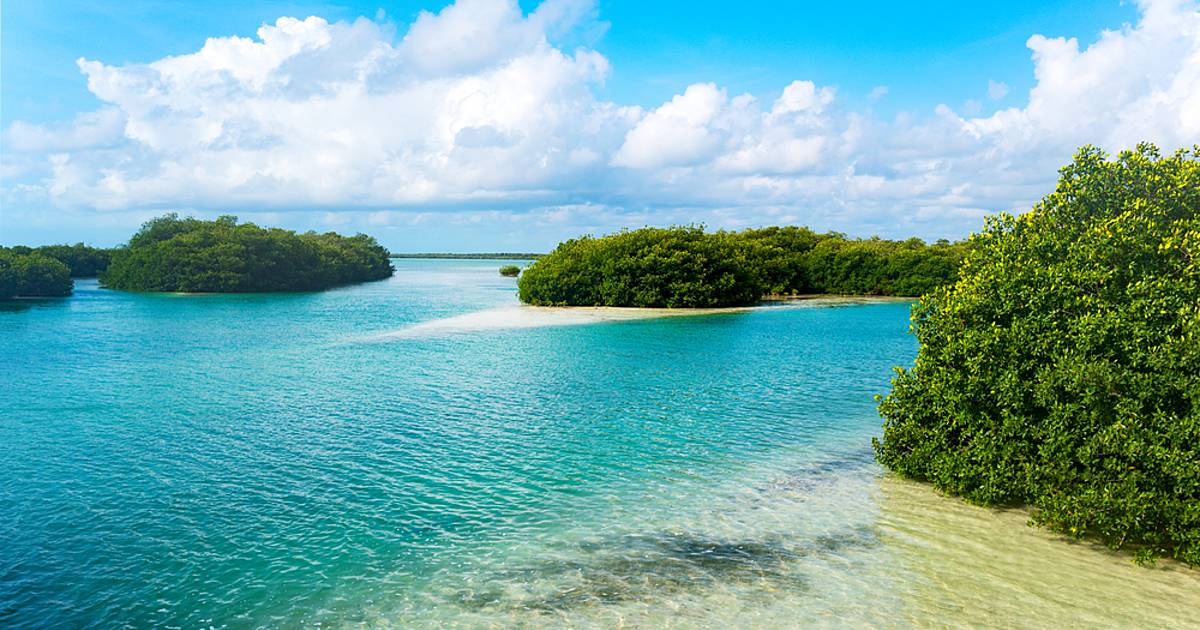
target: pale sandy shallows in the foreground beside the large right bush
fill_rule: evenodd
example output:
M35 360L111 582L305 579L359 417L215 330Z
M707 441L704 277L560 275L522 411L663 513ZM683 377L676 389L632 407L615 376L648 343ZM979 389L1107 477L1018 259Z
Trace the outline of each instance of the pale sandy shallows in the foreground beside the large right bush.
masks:
M1025 511L878 474L868 457L647 487L636 504L456 556L367 625L1198 626L1200 571L1134 565L1027 527Z

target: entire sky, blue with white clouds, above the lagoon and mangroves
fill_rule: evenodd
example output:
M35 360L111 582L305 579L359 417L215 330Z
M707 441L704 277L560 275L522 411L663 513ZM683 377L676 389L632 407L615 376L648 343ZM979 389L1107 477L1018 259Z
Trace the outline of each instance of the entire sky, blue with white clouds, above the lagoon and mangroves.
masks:
M1196 0L0 4L4 245L166 211L394 251L960 239L1142 140L1200 143Z

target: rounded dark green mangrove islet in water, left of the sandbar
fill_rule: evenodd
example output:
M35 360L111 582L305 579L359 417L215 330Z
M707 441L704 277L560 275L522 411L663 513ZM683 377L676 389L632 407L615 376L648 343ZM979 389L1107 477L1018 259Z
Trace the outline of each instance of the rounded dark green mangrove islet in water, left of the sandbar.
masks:
M246 293L319 290L391 276L388 251L359 234L296 234L278 228L167 215L113 251L101 275L126 290Z

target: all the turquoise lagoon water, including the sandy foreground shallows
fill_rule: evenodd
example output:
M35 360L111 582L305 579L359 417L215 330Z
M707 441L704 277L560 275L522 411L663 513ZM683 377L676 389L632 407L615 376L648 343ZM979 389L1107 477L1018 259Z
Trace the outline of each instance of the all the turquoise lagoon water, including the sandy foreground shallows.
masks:
M498 265L0 306L0 626L1196 623L872 463L906 304L509 326Z

